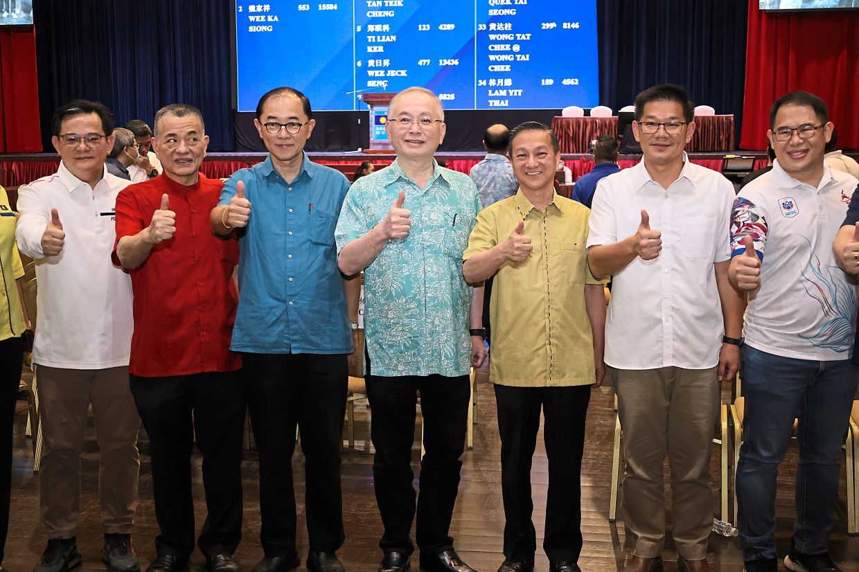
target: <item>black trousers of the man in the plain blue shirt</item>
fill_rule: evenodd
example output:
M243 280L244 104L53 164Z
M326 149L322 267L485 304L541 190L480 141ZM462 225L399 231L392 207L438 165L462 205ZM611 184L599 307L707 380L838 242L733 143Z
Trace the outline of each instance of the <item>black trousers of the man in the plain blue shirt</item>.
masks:
M311 551L345 539L340 450L349 384L343 354L244 354L247 405L259 450L259 540L266 557L293 557L295 427L305 459L304 506Z

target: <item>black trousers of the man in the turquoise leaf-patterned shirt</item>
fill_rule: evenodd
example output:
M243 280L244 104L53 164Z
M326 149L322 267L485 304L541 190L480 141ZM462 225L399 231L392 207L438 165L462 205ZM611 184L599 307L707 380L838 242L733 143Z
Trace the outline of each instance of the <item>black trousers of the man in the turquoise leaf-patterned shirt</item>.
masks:
M367 367L369 372L369 361ZM386 552L414 551L409 538L416 497L411 445L418 392L426 453L417 496L417 546L434 554L454 547L448 532L460 486L460 456L466 447L469 378L368 375L367 397L373 411L370 433L376 449L373 478L385 529L379 546Z

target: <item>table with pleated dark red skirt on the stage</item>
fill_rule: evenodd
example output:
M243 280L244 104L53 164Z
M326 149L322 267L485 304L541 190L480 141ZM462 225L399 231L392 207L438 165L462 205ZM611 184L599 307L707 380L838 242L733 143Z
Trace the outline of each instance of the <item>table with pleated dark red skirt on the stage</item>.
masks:
M686 150L690 152L734 149L733 115L699 115L695 133ZM589 153L590 142L600 135L618 137L617 117L556 117L551 120L561 153Z

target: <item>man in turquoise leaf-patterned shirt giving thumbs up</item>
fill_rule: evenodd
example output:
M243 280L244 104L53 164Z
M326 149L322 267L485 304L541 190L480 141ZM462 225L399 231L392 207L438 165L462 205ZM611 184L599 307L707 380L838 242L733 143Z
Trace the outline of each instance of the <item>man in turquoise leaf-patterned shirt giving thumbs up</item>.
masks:
M385 532L380 572L405 572L414 551L411 450L417 393L423 447L416 540L427 572L470 572L449 536L471 395L469 367L486 356L483 288L462 276L462 253L480 210L474 182L439 167L442 102L407 88L388 106L390 167L358 180L337 225L338 265L364 271L367 393L376 448L373 482Z

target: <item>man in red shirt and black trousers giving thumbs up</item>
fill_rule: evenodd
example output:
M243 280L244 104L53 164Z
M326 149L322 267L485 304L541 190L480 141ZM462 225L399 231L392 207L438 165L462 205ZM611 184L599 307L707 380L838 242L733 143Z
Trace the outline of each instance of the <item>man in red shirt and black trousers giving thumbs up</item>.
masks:
M131 274L134 290L131 392L152 447L161 528L148 572L185 569L194 551L195 432L209 509L198 545L207 569L239 570L245 398L241 358L229 350L239 251L235 238L218 239L210 228L222 183L198 172L208 143L196 107L162 107L153 145L164 172L116 201L113 261Z

